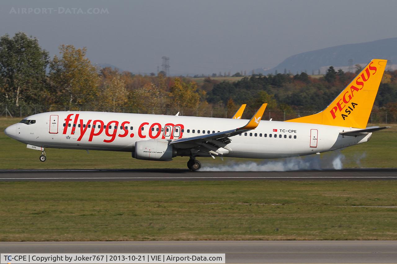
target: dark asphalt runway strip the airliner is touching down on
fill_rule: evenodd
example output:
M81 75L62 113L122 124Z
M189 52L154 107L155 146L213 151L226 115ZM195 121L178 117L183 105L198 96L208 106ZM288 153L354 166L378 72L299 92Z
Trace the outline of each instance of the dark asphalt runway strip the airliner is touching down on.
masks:
M0 181L397 180L396 168L286 172L192 172L183 169L0 170Z

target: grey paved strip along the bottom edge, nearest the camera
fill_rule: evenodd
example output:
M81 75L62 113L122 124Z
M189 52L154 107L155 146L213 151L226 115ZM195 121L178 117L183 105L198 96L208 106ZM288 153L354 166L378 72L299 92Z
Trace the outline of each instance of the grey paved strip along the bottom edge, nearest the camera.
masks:
M225 253L226 263L397 263L397 241L0 242L1 253Z

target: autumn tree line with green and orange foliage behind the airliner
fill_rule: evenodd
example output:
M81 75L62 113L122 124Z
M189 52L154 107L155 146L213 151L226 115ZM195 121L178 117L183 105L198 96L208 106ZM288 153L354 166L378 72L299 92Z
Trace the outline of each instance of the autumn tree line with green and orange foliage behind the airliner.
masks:
M37 38L18 32L0 38L0 103L13 113L21 107L42 105L46 111L92 110L130 113L222 117L247 103L249 117L263 102L267 111L300 115L321 111L354 77L332 66L326 75L306 73L252 75L237 82L205 78L197 84L188 77L135 75L105 67L86 57L86 48L59 46L50 58ZM360 69L357 69L359 71ZM385 72L374 111L397 112L397 71ZM224 114L225 113L225 114ZM391 116L390 116L391 117ZM281 118L279 118L281 119Z

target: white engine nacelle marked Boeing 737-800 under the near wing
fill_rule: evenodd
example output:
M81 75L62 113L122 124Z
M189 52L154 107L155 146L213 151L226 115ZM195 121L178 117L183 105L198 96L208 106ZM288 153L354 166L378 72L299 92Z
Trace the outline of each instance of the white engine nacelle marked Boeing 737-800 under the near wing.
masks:
M135 142L132 157L148 161L172 161L176 157L176 150L167 140L140 140Z

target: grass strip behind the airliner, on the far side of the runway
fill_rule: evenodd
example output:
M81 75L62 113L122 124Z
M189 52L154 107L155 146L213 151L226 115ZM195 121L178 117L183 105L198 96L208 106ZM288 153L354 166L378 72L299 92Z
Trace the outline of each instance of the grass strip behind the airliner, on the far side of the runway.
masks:
M19 122L19 118L0 118L0 169L46 169L46 168L186 168L187 157L177 157L173 161L141 161L133 159L128 152L90 151L71 149L47 149L47 161L40 162L39 151L27 149L26 145L9 138L4 134L4 128ZM389 125L393 126L393 125ZM370 142L348 147L341 151L345 156L345 168L382 168L397 167L397 125L381 132L375 132ZM335 152L323 153L320 160L330 160ZM308 156L311 159L312 156ZM301 158L297 158L301 159ZM302 158L305 159L305 158ZM204 166L225 165L228 163L246 163L254 161L266 163L277 160L201 158Z

